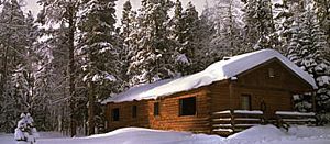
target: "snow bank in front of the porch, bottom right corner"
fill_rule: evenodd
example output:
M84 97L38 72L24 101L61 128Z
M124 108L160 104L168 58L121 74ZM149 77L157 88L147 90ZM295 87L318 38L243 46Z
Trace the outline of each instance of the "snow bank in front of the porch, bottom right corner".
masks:
M224 144L330 144L329 128L293 126L288 132L258 125L229 136Z

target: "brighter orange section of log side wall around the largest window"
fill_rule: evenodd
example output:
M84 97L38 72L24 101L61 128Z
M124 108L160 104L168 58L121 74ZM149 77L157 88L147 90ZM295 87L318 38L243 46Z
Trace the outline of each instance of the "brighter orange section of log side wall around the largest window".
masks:
M150 122L152 129L207 132L210 131L209 120L209 97L206 88L198 88L188 92L179 92L156 101L148 101L151 109ZM196 97L196 114L179 115L179 99ZM153 104L160 102L160 115L153 115Z

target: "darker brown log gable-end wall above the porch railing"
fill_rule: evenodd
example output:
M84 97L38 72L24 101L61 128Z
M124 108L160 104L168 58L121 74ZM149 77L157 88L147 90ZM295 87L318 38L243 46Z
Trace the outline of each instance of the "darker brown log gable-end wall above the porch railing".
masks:
M270 77L268 69L274 69ZM312 88L301 80L280 62L272 59L238 76L238 80L222 80L209 86L211 111L242 109L242 95L251 96L251 110L261 110L265 103L265 118L275 117L276 110L293 110L293 93L311 91ZM231 93L232 92L232 93Z

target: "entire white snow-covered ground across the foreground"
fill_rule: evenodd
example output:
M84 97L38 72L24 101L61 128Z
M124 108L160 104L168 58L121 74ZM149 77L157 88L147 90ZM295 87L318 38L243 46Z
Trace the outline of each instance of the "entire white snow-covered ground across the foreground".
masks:
M0 134L0 144L15 144L13 134ZM330 144L330 125L292 126L288 132L274 125L260 125L229 137L189 132L124 128L87 137L64 137L41 133L37 144Z

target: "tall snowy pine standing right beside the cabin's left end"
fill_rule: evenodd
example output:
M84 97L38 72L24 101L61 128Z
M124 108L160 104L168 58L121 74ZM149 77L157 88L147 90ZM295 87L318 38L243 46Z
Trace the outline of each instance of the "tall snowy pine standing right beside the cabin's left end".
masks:
M84 3L79 21L81 55L88 86L88 134L95 134L95 102L117 92L117 75L120 62L114 19L116 0L95 0ZM109 89L112 88L112 89Z

